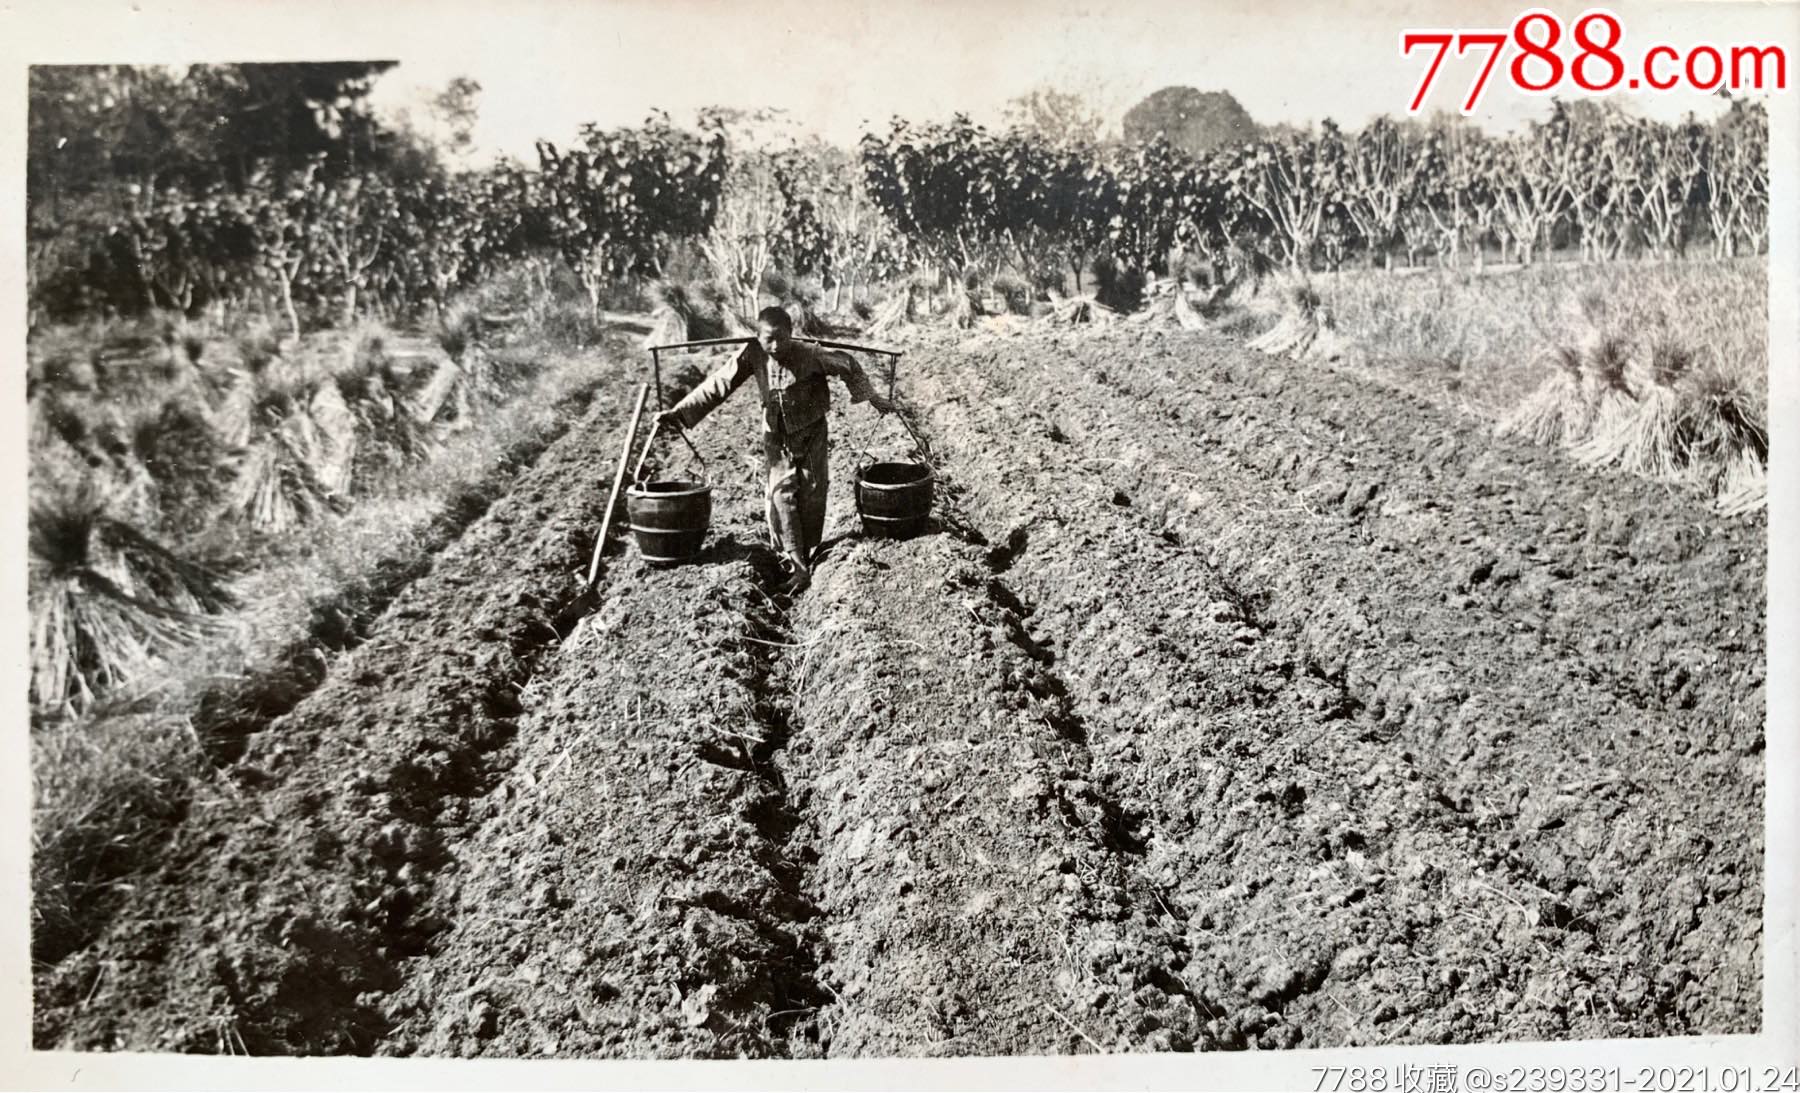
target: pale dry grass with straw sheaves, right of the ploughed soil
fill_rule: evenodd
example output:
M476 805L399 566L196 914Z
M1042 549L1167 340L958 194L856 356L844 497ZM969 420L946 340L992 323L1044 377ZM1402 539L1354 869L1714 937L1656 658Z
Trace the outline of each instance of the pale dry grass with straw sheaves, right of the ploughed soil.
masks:
M1712 492L1721 511L1766 497L1766 259L1345 270L1310 285L1346 339L1341 360L1377 384L1589 470ZM1294 315L1291 294L1264 292L1210 319L1303 357Z

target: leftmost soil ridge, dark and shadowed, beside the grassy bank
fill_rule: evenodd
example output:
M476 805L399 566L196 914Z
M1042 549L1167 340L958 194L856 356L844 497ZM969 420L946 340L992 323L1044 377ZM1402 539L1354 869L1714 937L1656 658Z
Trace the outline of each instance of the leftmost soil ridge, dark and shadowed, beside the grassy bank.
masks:
M518 688L580 591L617 391L257 733L104 936L40 980L40 1046L367 1052L414 911L508 765ZM401 682L403 681L403 682Z

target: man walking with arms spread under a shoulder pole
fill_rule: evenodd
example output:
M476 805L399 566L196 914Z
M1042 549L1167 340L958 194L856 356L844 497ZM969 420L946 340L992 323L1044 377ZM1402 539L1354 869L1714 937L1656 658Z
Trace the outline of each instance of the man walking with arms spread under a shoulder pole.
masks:
M893 412L893 403L877 394L855 357L796 342L788 313L763 308L756 315L756 340L657 418L659 425L691 429L745 380L756 382L763 403L769 538L792 569L788 592L806 587L824 535L828 376L844 382L850 402Z

